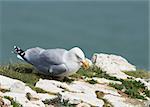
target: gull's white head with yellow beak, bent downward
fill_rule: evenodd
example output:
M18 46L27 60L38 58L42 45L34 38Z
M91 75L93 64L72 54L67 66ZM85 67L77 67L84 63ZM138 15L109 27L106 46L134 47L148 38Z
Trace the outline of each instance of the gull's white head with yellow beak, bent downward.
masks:
M74 47L74 48L72 48L70 50L70 52L74 54L75 61L77 63L80 63L80 65L84 69L88 69L89 68L89 62L86 60L85 55L84 55L83 51L80 48Z

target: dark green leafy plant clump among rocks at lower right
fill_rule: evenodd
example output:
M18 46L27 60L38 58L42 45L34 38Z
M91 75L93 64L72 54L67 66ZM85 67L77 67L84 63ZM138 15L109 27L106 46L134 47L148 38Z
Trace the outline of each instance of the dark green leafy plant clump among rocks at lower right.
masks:
M140 81L127 79L122 80L121 82L122 84L110 83L109 85L124 92L131 98L146 100L144 94L149 97L150 91Z

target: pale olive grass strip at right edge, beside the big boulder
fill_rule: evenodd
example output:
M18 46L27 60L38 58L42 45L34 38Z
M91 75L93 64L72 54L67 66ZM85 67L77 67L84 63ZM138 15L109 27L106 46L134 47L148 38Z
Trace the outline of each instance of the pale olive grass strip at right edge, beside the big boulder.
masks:
M150 72L145 70L124 71L124 73L135 78L150 79Z

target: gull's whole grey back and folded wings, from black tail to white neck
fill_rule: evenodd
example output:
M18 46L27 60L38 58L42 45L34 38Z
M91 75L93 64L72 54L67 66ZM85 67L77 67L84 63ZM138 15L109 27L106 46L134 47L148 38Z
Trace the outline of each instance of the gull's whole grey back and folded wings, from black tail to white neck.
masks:
M64 49L42 49L32 48L25 51L26 59L33 64L39 72L47 75L57 76L67 71L63 63Z

